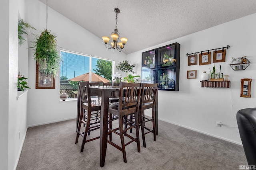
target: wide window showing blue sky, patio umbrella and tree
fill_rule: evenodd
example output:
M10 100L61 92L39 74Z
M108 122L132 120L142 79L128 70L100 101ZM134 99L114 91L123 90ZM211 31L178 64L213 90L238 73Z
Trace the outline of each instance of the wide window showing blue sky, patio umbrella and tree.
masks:
M76 97L80 81L111 82L114 61L64 50L60 56L60 94L65 90L68 98Z

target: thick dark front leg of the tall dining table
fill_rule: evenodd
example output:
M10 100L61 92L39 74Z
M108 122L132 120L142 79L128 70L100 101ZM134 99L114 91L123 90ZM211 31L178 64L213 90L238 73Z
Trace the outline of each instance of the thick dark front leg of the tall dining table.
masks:
M102 91L100 110L100 167L105 164L108 143L108 99L109 91Z

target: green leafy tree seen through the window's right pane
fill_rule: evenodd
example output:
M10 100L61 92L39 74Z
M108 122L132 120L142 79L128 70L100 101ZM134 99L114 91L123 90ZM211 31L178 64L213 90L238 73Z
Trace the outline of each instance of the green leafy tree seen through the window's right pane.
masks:
M95 74L98 74L108 80L112 79L112 62L99 59L96 64Z

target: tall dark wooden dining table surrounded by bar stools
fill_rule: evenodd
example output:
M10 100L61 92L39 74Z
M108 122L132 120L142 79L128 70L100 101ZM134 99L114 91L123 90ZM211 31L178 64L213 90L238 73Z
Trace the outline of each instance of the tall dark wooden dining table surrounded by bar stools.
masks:
M120 87L105 87L105 86L91 86L90 93L91 96L98 96L101 98L101 110L100 110L100 167L105 164L106 150L108 143L108 106L109 98L119 97ZM79 90L78 90L79 92ZM158 95L157 95L158 96ZM155 110L155 123L156 123L156 135L158 132L158 107L157 107L157 97L156 96L156 110ZM80 95L78 93L77 99L77 117L76 117L76 130L79 123L80 114Z

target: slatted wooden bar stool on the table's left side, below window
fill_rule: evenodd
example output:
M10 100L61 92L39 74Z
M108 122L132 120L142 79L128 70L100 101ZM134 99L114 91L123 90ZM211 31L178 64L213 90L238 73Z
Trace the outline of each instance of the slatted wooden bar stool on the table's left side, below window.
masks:
M98 113L100 113L101 102L100 100L91 101L89 82L79 82L78 89L79 89L78 95L80 96L80 115L79 115L79 123L78 123L75 143L78 143L78 138L81 135L83 139L82 139L80 152L83 152L85 143L96 140L96 139L100 139L100 137L94 137L92 139L86 140L86 136L90 131L100 129L100 120L98 117ZM92 120L98 120L98 121L92 122ZM85 125L84 132L80 131L82 123Z

